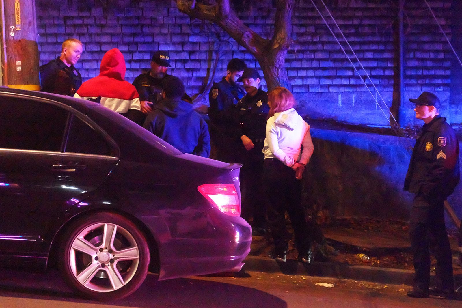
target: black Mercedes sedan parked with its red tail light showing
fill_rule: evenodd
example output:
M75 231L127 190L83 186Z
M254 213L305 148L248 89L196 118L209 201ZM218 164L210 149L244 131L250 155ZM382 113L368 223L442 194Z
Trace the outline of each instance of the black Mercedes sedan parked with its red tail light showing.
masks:
M0 88L0 264L57 265L79 294L239 270L239 164L184 154L98 103Z

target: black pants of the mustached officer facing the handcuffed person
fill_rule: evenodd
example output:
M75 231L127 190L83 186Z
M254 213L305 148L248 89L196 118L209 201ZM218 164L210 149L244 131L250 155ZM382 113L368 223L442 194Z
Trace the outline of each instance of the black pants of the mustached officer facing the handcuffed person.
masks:
M243 148L243 145L241 145ZM263 190L263 160L262 143L246 151L241 149L239 161L242 163L240 172L242 210L241 217L247 222L253 217L252 228L266 228L266 199Z

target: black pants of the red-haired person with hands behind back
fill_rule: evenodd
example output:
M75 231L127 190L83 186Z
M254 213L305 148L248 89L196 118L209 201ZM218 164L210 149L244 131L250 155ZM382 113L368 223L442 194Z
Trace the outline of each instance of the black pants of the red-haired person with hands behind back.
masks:
M310 248L305 209L301 205L302 182L295 178L295 171L275 158L266 158L263 181L268 199L268 224L274 239L276 253L287 249L286 211L292 222L295 246L298 253Z

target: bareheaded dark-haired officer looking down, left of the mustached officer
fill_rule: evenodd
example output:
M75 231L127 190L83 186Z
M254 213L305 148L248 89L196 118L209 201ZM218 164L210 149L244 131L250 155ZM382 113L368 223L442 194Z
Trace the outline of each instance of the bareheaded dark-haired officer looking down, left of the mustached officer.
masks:
M237 145L233 136L234 112L237 102L245 94L236 82L246 68L247 65L241 59L229 61L226 76L220 82L213 83L209 93L210 134L217 149L217 158L224 162L235 160L234 151Z

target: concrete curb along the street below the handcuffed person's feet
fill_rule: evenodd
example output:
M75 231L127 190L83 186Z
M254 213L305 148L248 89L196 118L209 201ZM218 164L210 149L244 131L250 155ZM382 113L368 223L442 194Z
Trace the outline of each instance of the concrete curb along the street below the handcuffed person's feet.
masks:
M256 256L247 256L243 262L244 271L345 278L382 284L411 284L414 275L413 271L395 268L350 266L318 261L305 264L296 260L279 263L274 259Z

